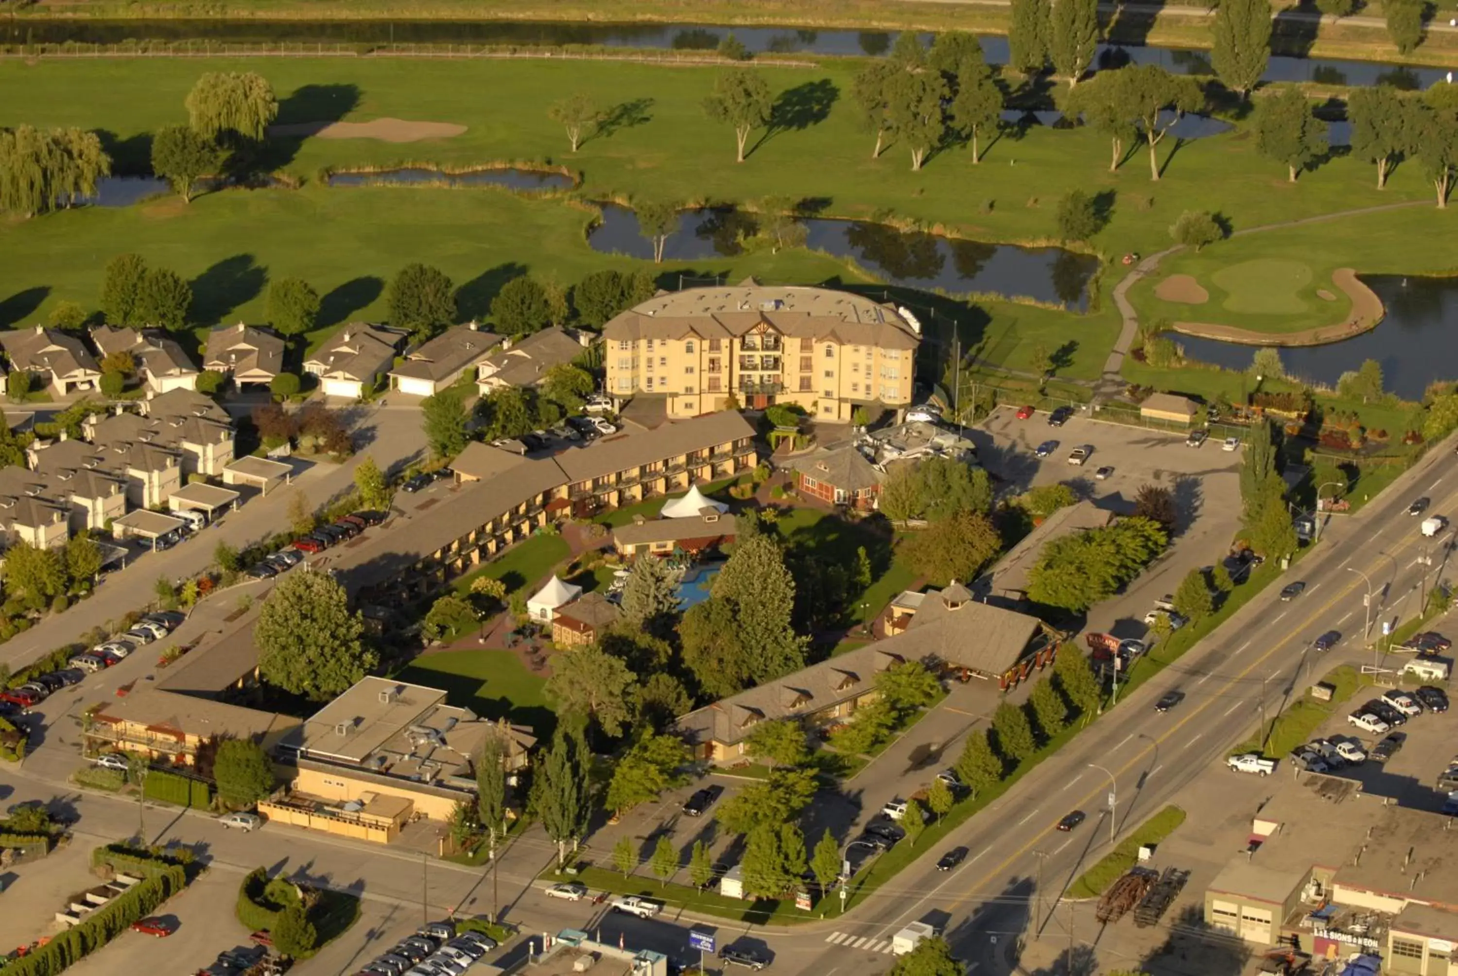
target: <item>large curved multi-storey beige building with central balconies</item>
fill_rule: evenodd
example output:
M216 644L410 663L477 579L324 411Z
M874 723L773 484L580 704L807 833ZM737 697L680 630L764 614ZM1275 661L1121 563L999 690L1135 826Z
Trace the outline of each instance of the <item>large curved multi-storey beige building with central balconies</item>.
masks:
M905 309L822 287L659 293L602 331L607 392L662 395L674 417L793 403L850 422L857 406L911 403L921 325Z

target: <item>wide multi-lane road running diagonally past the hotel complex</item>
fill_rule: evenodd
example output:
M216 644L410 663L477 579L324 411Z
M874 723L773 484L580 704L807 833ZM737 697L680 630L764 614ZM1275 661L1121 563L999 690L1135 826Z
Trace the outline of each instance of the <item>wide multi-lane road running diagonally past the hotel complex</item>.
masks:
M961 868L936 872L940 848L929 849L846 919L771 937L781 963L776 969L819 976L884 972L891 957L869 950L908 921L935 919L958 956L978 963L978 973L1006 972L1000 947L1026 931L1038 903L1040 859L1045 915L1057 893L1107 852L1111 776L1115 832L1133 829L1248 737L1263 706L1266 715L1274 715L1337 664L1373 664L1362 636L1368 592L1362 573L1371 579L1375 639L1382 620L1419 611L1417 586L1424 573L1427 585L1443 576L1446 543L1454 534L1445 532L1438 544L1423 538L1420 519L1406 509L1414 496L1427 495L1429 514L1458 512L1455 474L1452 452L1439 448L1363 512L1333 519L1321 549L1283 579L1306 582L1296 601L1280 603L1280 586L1268 586L1177 665L1121 702L1112 716L1094 724L949 836L943 848L965 845L971 851ZM1424 553L1433 554L1432 568L1417 562ZM1217 554L1212 553L1210 562ZM1341 643L1327 654L1309 651L1328 629L1344 633ZM1392 658L1398 668L1406 661ZM1388 667L1385 659L1379 664ZM1153 702L1174 689L1185 692L1185 700L1168 713L1155 712ZM1072 810L1086 811L1088 821L1060 833L1056 824ZM1091 919L1086 938L1092 932Z

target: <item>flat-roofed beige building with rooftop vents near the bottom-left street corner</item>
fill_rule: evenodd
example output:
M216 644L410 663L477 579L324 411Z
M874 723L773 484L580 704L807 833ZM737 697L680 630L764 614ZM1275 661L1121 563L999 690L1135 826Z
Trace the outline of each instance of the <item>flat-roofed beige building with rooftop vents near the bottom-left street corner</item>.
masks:
M420 684L367 677L305 719L284 745L299 772L289 802L308 798L340 813L375 798L413 816L448 821L455 805L475 798L475 763L497 740L507 772L528 764L531 729L491 722L446 705L446 693Z

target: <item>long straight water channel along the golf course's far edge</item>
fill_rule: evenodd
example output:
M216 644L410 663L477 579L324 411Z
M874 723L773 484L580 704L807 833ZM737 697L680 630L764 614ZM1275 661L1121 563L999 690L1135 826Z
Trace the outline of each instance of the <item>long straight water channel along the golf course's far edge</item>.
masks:
M45 20L12 19L0 44L122 44L125 41L216 41L235 44L499 44L521 47L602 45L713 51L733 34L755 54L831 54L879 57L891 51L895 31L818 31L795 26L725 28L707 23L579 23L502 20ZM930 44L932 34L923 34ZM1007 63L1007 39L983 36L993 64ZM1182 74L1215 74L1207 51L1143 45L1098 48L1098 67L1159 64ZM1382 61L1271 57L1267 82L1394 85L1427 88L1443 69Z

